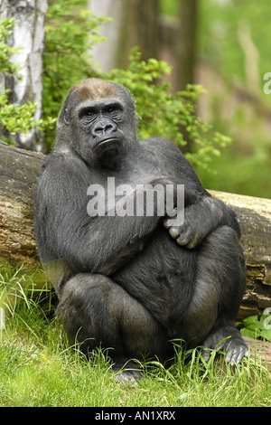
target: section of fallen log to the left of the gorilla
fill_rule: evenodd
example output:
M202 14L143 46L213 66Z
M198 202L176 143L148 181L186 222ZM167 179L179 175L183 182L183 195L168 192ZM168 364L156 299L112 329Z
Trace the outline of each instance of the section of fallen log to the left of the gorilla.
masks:
M0 157L0 260L37 265L33 194L43 156L0 141Z

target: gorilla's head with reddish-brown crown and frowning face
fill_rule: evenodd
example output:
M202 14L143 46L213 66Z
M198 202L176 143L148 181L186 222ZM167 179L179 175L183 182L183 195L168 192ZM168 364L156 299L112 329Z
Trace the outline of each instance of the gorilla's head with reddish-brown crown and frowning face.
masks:
M137 119L131 94L115 82L82 80L58 120L56 150L73 149L89 165L117 165L133 149Z

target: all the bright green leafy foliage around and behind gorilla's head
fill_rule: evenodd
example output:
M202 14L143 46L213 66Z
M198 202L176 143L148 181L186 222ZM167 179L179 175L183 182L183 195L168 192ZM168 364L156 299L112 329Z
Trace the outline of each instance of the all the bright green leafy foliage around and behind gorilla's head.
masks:
M197 117L196 103L203 91L202 87L189 85L187 90L173 94L171 85L161 80L166 73L170 73L171 67L155 59L141 61L141 54L136 48L131 53L126 70L112 70L107 74L93 71L89 51L94 43L104 40L98 36L98 25L106 18L98 18L81 6L79 0L60 0L52 2L48 10L42 101L44 119L38 122L33 119L36 106L31 102L22 106L8 104L5 92L0 98L2 126L13 135L19 131L26 133L32 127L45 130L50 146L53 139L52 125L70 86L83 78L98 76L115 80L133 93L137 113L141 118L139 137L164 137L177 146L183 146L186 142L182 137L182 126L196 146L194 152L187 154L188 159L192 165L208 168L210 157L219 156L220 148L228 145L230 139L220 133L213 133L211 127ZM6 45L14 20L6 21L5 25L7 28L3 30L3 41ZM6 52L5 71L14 71L8 61L12 52Z

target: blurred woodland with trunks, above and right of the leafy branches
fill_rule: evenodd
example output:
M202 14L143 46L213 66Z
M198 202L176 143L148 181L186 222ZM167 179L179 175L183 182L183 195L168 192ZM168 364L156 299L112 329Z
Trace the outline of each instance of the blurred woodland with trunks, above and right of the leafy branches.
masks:
M173 66L173 90L200 83L198 115L232 138L202 184L226 192L270 197L271 2L262 0L89 0L107 42L93 57L104 71L125 67L130 48ZM267 76L266 76L267 77ZM266 84L266 90L264 90ZM271 86L270 86L271 87ZM266 93L265 93L266 91Z

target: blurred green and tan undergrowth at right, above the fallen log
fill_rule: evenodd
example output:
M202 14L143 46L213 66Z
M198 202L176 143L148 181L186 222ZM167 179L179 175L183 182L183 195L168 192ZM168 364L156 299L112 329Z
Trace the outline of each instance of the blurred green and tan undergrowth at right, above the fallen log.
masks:
M160 0L163 13L175 17L177 3L178 0ZM223 156L213 156L209 163L215 178L201 169L201 182L225 192L270 197L271 151L267 116L271 96L263 91L266 82L263 76L270 71L267 34L270 32L271 3L204 0L198 2L198 6L198 52L199 57L204 58L199 66L202 78L209 81L207 103L200 108L204 108L202 112L210 117L210 123L218 131L233 139ZM250 69L240 45L240 32L248 33L256 46L255 68ZM248 55L253 52L248 42ZM258 80L251 87L248 76L250 72L255 75L255 69Z

